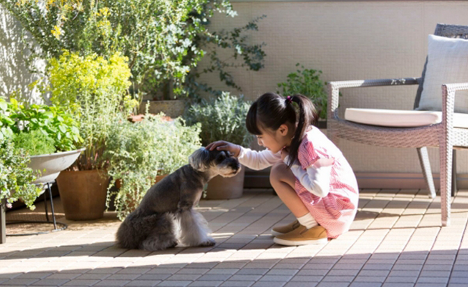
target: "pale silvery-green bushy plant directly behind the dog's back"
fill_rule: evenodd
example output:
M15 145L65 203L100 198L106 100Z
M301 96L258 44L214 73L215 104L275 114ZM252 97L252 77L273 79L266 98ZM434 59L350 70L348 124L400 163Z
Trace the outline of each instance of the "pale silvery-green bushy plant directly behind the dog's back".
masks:
M187 126L181 118L168 121L163 114L146 114L136 123L117 119L110 127L103 155L112 178L107 207L113 204L118 218L125 219L151 185L187 164L200 145L200 125ZM111 191L117 183L118 190Z

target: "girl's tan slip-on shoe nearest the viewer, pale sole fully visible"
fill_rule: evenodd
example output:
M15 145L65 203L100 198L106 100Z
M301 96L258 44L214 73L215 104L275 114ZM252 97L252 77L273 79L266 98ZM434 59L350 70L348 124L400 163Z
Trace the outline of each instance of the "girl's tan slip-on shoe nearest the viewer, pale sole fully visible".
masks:
M327 231L318 225L307 229L299 225L295 230L276 236L273 241L279 245L297 246L309 244L325 244L328 242Z

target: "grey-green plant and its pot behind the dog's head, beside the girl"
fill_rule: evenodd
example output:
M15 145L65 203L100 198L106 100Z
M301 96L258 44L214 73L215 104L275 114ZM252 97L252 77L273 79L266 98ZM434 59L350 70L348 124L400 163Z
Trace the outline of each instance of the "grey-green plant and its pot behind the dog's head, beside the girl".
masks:
M245 118L251 103L244 98L222 93L215 100L194 104L187 113L187 122L201 123L201 143L218 140L247 146L253 137L247 132ZM245 168L233 178L216 176L208 183L206 199L235 199L242 196Z

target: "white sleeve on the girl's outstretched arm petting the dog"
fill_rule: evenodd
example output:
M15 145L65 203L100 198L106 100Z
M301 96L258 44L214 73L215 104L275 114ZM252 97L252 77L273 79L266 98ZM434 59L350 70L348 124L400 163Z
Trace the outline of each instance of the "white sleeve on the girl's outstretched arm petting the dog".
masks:
M244 164L249 169L260 170L272 166L275 162L279 162L281 160L281 151L275 154L270 150L257 151L250 148L242 148L241 146L237 158L241 164Z

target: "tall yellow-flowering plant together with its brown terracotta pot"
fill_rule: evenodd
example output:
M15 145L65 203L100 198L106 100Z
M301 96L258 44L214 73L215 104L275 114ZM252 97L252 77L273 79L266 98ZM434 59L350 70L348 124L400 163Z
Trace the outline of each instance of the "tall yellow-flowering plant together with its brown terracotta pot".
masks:
M63 52L49 61L50 100L79 124L86 148L70 169L57 178L65 217L98 219L104 215L109 177L102 160L109 130L120 113L130 114L136 101L126 95L130 86L127 59Z

